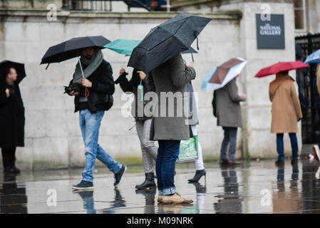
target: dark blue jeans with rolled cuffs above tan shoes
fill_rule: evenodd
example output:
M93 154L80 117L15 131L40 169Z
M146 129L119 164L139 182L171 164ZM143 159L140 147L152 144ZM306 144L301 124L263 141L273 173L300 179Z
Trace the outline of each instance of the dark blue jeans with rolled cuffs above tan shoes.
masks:
M180 140L159 140L155 172L159 195L175 194L175 162L180 152Z

